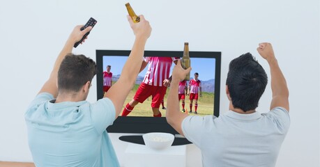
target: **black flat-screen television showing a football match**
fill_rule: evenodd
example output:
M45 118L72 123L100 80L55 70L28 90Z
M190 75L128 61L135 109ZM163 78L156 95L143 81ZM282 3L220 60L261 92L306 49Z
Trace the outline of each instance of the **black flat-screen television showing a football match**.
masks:
M107 65L111 65L112 82L116 82L119 79L122 67L130 54L130 50L96 50L96 63L97 63L97 100L101 99L104 95L103 92L103 72L106 70ZM220 69L221 69L221 52L220 51L189 51L192 70L190 72L190 80L193 79L194 73L199 74L198 79L201 81L202 97L199 97L197 115L206 116L214 115L219 116L220 106ZM145 57L179 57L183 56L183 51L144 51ZM172 67L170 74L172 74ZM137 81L134 88L132 88L130 94L123 104L125 105L133 99L139 84L141 84L148 65L138 74ZM188 83L189 81L187 81ZM169 93L169 87L164 98L164 103L167 101L167 95ZM139 134L137 136L121 136L122 141L129 141L132 143L143 144L141 134L148 132L167 132L170 134L176 134L178 132L174 130L165 118L165 109L162 109L160 105L161 118L154 118L151 110L151 97L148 97L144 103L139 103L135 106L135 109L128 116L119 116L113 123L113 125L107 127L107 132L111 133L128 133ZM185 96L185 109L189 111L189 97ZM195 104L195 102L194 102ZM180 101L181 108L181 101ZM191 113L194 115L195 113ZM174 141L173 145L182 145L188 143L183 138ZM190 143L190 142L189 142Z

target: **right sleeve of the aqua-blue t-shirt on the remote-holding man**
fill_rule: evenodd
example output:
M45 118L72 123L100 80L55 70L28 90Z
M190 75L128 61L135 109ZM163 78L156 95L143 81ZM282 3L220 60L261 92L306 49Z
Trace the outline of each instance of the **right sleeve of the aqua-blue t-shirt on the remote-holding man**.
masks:
M109 98L105 97L91 104L91 120L99 133L112 125L116 118L116 109Z

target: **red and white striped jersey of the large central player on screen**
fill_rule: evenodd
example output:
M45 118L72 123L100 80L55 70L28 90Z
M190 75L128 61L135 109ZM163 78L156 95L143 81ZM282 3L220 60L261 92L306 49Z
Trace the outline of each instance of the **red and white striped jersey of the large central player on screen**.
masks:
M145 84L151 86L162 86L163 81L170 77L170 68L173 61L178 60L175 57L146 57L144 61L148 62L148 70L144 76Z

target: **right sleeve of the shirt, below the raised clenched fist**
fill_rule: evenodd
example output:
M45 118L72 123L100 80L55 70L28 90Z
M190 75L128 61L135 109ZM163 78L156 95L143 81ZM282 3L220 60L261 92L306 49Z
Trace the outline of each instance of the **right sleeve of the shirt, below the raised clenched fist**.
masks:
M275 107L268 113L264 113L266 116L270 117L273 122L277 125L277 128L282 133L287 133L290 126L290 116L289 112L282 107Z

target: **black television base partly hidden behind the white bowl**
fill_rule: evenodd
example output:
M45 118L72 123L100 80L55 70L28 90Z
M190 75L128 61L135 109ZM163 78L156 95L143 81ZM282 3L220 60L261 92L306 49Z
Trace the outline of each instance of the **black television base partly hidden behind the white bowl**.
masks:
M126 141L129 143L145 145L144 138L142 138L142 135L120 136L119 140ZM172 143L172 145L187 145L187 144L191 144L191 142L188 141L187 138L183 138L183 137L174 137L174 143Z

